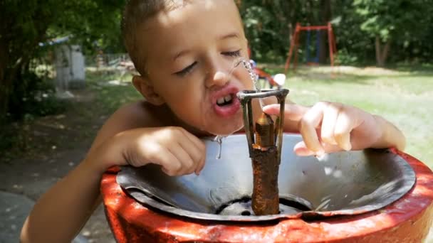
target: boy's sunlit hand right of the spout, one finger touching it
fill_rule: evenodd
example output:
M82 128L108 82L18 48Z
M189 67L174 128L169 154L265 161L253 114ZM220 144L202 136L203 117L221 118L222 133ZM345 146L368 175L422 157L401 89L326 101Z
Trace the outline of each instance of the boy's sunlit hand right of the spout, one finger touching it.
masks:
M279 104L271 104L264 112L278 115L279 109ZM299 156L374 147L383 133L377 117L340 103L318 102L313 107L286 104L284 119L284 130L298 131L303 137L294 148Z

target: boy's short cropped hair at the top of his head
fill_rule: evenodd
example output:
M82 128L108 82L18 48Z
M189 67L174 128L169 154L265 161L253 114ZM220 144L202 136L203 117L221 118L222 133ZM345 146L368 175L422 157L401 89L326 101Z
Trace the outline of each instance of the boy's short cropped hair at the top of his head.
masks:
M128 0L122 17L123 43L132 63L141 75L145 75L145 60L138 48L137 29L160 11L169 11L183 6L188 0Z

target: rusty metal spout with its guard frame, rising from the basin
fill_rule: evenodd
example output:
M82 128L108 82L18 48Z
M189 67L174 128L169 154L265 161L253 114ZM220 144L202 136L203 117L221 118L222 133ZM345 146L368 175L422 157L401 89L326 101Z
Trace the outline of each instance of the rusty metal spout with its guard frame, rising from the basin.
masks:
M281 160L283 136L283 112L288 90L246 90L238 93L244 110L244 126L253 166L253 194L251 207L255 215L279 213L278 168ZM251 99L275 96L280 103L280 118L274 123L268 114L262 113L253 131ZM255 136L254 136L255 135ZM277 145L276 145L277 144Z

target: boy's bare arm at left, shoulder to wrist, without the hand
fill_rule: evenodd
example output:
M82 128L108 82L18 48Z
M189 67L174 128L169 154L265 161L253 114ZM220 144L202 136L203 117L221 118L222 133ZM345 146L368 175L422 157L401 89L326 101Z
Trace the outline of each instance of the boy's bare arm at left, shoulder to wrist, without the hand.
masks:
M149 126L152 116L137 102L120 108L100 129L89 154L121 131ZM85 158L39 198L21 229L21 242L71 242L99 204L100 179L108 165Z

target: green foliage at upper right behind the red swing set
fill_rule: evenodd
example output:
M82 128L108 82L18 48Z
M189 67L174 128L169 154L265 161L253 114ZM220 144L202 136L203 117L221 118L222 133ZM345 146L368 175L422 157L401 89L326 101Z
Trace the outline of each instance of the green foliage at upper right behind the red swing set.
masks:
M392 41L393 63L431 62L433 0L243 0L241 16L253 58L282 63L296 23L325 24L323 4L331 5L328 20L333 23L338 53L343 55L339 61L375 63L374 38L380 36L382 41ZM300 43L305 50L305 33Z

